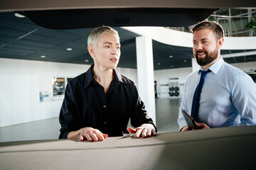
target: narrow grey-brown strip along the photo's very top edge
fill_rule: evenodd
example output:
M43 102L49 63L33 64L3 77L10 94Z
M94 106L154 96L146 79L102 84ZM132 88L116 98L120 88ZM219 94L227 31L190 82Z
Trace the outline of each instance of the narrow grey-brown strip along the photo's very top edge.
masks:
M1 0L0 11L28 11L75 8L235 8L255 7L253 0Z

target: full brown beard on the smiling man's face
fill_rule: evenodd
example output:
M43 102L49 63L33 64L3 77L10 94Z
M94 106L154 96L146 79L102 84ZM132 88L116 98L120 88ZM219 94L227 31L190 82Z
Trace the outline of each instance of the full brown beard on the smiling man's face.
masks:
M198 53L200 52L205 52L206 57L198 57ZM199 65L205 66L213 62L218 57L218 48L215 48L213 52L197 51L196 54L194 54L194 57L196 57L196 62Z

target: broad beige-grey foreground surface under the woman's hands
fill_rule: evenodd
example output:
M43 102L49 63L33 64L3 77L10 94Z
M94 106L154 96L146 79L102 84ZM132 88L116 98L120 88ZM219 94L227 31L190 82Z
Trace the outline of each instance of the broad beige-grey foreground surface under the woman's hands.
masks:
M102 142L0 143L0 169L252 169L256 126L213 128Z

